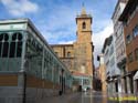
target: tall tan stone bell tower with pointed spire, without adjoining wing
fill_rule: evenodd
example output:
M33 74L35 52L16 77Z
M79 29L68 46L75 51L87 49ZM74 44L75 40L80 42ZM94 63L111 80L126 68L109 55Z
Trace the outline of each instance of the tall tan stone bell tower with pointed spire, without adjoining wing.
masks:
M93 42L92 42L92 16L86 13L83 6L82 12L76 17L77 40L74 43L75 69L81 73L93 76Z

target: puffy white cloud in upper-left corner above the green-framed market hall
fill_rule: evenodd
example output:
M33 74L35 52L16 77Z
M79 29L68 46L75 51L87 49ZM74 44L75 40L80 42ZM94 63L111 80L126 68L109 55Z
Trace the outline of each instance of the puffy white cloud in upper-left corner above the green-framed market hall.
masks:
M12 16L24 16L39 10L39 6L30 0L1 0L1 3Z

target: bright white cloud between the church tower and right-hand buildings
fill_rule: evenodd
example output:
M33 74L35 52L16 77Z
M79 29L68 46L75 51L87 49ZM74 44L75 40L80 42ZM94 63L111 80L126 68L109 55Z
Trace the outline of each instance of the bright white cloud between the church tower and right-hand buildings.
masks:
M113 32L114 32L113 22L110 20L109 23L107 23L107 25L102 31L93 34L93 42L95 45L95 50L94 50L95 66L98 66L97 55L99 53L102 53L102 49L103 49L103 44L104 44L105 39L107 37L109 37Z

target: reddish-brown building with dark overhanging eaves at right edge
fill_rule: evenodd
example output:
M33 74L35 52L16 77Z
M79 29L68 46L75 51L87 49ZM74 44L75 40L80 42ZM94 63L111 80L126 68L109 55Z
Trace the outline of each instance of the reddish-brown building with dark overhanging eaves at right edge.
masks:
M128 1L119 20L124 24L128 93L134 94L138 92L138 0Z

